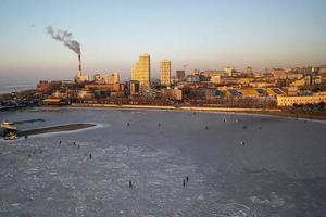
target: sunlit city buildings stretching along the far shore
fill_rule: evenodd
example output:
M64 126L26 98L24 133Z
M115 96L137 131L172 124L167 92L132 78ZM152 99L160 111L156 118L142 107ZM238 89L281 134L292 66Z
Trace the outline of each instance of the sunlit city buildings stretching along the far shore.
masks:
M130 79L122 82L118 73L96 74L92 80L79 71L74 81L40 81L38 92L45 102L213 104L217 106L291 106L325 102L326 66L272 68L255 72L248 66L224 69L177 69L172 63L160 63L160 79L151 77L151 59L139 55ZM237 103L241 102L241 103Z

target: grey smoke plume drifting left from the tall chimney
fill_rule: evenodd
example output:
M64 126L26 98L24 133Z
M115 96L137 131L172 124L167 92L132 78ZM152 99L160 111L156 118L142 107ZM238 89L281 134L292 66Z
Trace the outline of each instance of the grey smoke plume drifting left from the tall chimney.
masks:
M52 26L47 27L47 33L58 41L62 41L64 46L73 50L77 55L80 55L80 44L78 41L73 40L73 34L67 30L57 29Z

